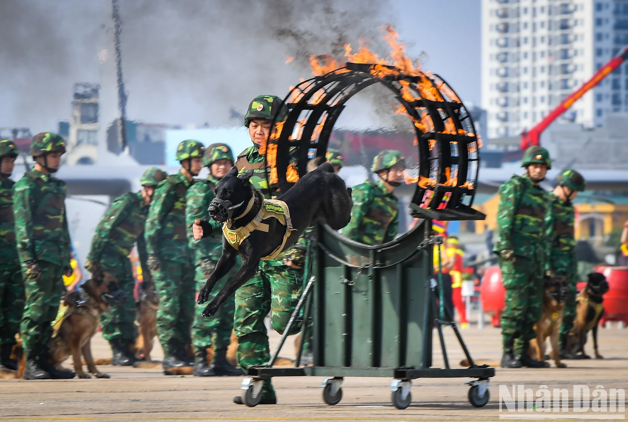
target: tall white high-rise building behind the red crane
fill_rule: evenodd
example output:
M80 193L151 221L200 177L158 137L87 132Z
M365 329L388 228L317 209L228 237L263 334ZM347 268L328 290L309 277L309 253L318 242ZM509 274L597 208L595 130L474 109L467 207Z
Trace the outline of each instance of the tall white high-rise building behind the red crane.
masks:
M488 136L531 129L628 45L628 0L482 0L482 107ZM628 66L562 120L587 127L628 110Z

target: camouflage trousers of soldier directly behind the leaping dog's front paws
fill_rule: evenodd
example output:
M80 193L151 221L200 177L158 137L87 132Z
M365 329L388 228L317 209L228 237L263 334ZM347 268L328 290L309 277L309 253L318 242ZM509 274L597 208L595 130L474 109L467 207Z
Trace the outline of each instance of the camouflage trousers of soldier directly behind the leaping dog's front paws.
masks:
M212 261L212 264L215 268L218 260ZM210 293L207 302L211 302L214 300L220 289L225 286L225 283L233 277L239 265L234 265L234 268L230 270L225 277L222 277L216 285L214 286L214 290ZM212 270L213 271L213 270ZM197 282L197 290L200 290L203 285L205 285L205 281L209 278L211 272L208 274L203 273L203 269L200 265L196 266L196 275L195 279ZM234 327L234 295L231 295L224 303L220 306L216 314L211 318L205 318L201 314L205 309L205 305L197 306L194 312L194 324L192 325L192 344L194 347L214 347L214 351L220 349L226 349L229 346L231 339L231 330Z

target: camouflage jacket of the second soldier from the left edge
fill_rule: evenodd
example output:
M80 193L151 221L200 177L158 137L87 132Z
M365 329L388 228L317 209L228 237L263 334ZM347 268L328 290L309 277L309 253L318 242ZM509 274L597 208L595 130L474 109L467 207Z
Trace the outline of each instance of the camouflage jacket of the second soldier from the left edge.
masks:
M19 260L70 264L65 216L65 182L35 169L13 187L13 214Z

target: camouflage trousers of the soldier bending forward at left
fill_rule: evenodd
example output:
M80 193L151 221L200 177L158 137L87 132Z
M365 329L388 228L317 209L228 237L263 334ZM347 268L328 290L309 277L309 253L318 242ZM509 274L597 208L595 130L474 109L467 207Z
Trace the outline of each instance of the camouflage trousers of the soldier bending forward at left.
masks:
M102 337L106 340L122 340L132 342L138 337L138 329L135 325L135 300L133 290L135 278L131 260L128 256L106 255L100 258L100 265L106 271L118 279L119 286L126 292L126 302L100 315L100 328Z

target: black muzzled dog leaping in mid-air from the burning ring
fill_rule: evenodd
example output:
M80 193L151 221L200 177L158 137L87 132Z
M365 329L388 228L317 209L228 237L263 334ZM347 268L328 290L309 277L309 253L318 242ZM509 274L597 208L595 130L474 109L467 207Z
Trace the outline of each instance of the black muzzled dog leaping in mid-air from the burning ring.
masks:
M223 236L222 255L214 272L198 293L198 304L207 301L216 282L235 265L238 253L242 258L242 266L205 307L204 317L214 315L229 295L256 275L259 260L290 248L312 221L321 219L332 229L338 230L349 224L351 219L351 189L333 172L333 166L329 163L301 177L295 186L279 198L288 206L290 218L286 219L286 224L281 224L277 218L259 220L258 214L264 211L263 206L277 210L279 214L283 214L283 211L276 203L264 202L262 194L249 182L252 175L251 170L237 177L237 169L232 167L227 176L218 182L214 201L209 206L212 219L219 223L227 222L232 231L224 231L230 240ZM242 236L244 240L237 240L241 233L236 235L233 231L251 227L247 224L254 220L261 228L254 229L246 238ZM286 229L290 228L290 224L292 229L288 235Z

